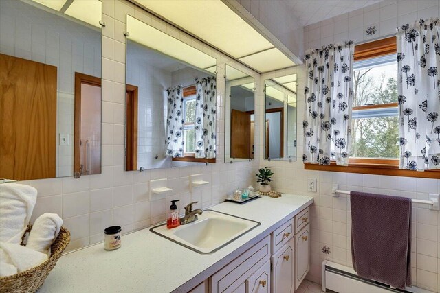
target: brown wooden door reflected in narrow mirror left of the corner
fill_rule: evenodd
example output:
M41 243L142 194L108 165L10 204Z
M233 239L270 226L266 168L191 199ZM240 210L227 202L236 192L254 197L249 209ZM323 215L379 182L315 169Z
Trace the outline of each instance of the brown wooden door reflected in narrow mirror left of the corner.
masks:
M250 158L250 113L231 111L231 157Z

